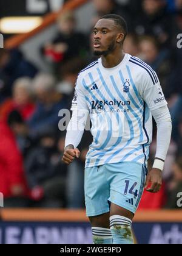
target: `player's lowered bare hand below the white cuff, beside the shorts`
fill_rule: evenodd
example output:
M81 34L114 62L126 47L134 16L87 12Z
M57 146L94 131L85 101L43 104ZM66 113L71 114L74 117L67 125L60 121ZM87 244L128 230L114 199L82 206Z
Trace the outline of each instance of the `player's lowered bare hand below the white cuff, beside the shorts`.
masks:
M153 168L147 175L145 189L150 193L158 193L161 190L163 183L162 171L160 169ZM150 188L149 184L151 183Z

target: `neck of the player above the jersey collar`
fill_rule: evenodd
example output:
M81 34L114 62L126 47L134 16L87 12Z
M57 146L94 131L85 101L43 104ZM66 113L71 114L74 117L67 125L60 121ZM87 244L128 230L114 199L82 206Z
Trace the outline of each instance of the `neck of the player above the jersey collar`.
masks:
M124 59L124 52L112 52L111 54L108 54L107 56L102 56L102 64L104 68L114 68L115 66L118 66L122 60Z

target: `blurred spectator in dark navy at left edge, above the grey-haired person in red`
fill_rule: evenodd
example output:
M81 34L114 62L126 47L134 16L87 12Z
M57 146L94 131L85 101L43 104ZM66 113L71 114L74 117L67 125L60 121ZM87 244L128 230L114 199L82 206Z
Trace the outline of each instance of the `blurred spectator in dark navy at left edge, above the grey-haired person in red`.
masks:
M18 49L0 51L1 101L12 96L12 85L20 77L35 77L38 69Z

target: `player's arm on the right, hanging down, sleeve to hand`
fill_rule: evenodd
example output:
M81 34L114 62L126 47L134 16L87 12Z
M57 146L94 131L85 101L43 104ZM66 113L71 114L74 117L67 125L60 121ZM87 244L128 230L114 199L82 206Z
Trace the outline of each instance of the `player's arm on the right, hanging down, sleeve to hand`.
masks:
M146 179L145 188L150 193L157 193L162 185L162 172L170 144L172 121L160 82L153 85L149 76L145 76L143 81L142 98L157 123L157 151L152 170ZM150 183L151 186L148 188Z

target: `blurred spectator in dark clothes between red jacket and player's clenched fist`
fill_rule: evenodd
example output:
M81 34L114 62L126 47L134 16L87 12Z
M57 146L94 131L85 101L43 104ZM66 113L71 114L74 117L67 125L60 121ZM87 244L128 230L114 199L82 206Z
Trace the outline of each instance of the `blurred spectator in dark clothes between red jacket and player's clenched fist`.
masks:
M64 138L58 146L54 131L42 135L39 145L27 155L25 172L31 190L32 207L59 208L66 205L67 166L61 163ZM59 148L59 150L58 150Z

